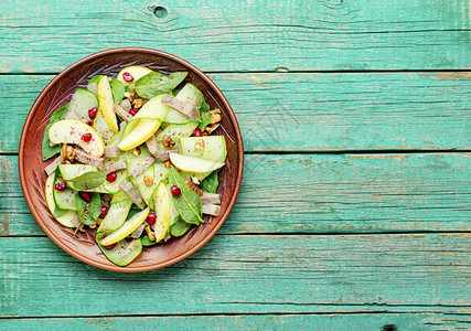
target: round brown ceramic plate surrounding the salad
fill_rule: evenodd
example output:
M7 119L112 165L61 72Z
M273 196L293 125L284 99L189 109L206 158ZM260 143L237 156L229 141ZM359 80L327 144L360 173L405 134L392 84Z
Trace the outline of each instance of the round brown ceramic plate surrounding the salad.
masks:
M220 171L222 211L217 217L205 215L206 222L192 228L180 238L172 238L162 245L144 247L142 254L127 267L110 263L95 244L94 232L87 231L74 236L74 229L66 228L54 221L46 206L44 167L51 161L41 159L41 142L44 128L57 108L67 104L76 88L86 88L86 83L97 74L116 77L118 72L129 65L142 65L162 73L189 72L185 82L200 88L211 109L222 110L222 125L217 135L224 135L227 145L226 166ZM20 180L28 205L36 222L62 249L72 256L98 268L141 273L172 265L201 248L217 232L227 218L240 188L244 163L240 130L234 113L217 86L200 70L190 63L164 52L149 49L114 49L89 55L58 74L35 100L28 115L20 142Z

